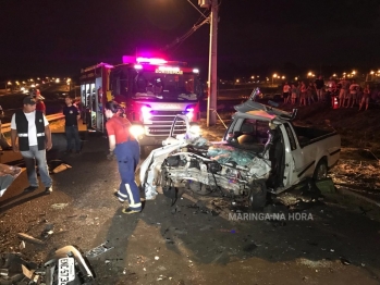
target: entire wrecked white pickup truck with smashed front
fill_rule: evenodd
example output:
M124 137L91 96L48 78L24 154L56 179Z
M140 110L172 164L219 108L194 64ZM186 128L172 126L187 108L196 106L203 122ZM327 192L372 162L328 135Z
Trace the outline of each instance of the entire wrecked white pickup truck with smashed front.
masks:
M201 138L197 125L177 115L163 147L142 163L146 199L157 195L157 187L174 198L181 187L199 195L244 197L258 209L267 193L282 193L309 177L324 178L340 157L340 135L294 125L296 109L290 113L250 98L235 110L219 142Z

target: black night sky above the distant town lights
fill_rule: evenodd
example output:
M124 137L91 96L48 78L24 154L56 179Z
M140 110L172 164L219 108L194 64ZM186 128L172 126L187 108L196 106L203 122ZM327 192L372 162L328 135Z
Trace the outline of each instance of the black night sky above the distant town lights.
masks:
M379 69L378 0L219 0L219 76L326 66ZM200 11L197 0L192 0ZM2 0L0 76L77 75L156 50L201 15L187 0ZM209 25L166 51L207 76ZM322 71L322 72L323 72Z

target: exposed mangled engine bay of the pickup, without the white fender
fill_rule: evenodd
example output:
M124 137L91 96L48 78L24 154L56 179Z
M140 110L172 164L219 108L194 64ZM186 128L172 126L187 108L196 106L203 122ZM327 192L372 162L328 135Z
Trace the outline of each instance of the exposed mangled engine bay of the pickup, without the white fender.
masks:
M247 153L228 146L211 147L206 153L199 149L171 153L161 165L161 185L186 187L199 194L206 194L206 187L209 193L246 195L255 181L268 178L271 169L268 159L252 152L247 158Z

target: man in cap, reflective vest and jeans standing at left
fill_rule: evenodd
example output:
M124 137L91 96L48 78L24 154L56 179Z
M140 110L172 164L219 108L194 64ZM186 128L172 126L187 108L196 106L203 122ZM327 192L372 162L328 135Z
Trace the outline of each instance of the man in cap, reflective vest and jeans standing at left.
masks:
M21 152L25 160L29 186L24 189L30 193L38 189L36 160L45 193L52 191L52 181L46 162L46 150L50 150L51 132L49 122L41 111L36 111L36 100L28 96L23 100L23 109L13 114L11 121L11 139L14 152ZM19 144L16 138L19 137Z

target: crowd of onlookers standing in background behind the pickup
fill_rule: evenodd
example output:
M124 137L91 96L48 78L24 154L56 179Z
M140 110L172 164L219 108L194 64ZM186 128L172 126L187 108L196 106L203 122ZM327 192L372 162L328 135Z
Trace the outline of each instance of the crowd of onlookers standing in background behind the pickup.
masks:
M298 83L287 82L282 87L283 102L299 106L308 106L314 102L326 102L332 108L354 108L354 106L368 110L371 100L380 100L380 91L377 87L370 88L369 84L361 87L355 80L341 79L335 82L330 78L324 83L322 76L315 82Z

